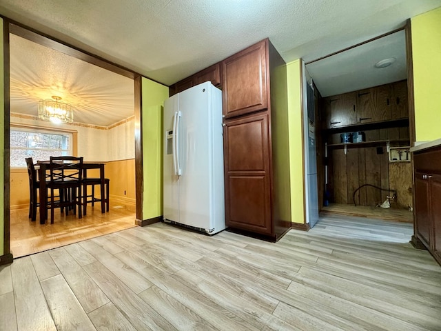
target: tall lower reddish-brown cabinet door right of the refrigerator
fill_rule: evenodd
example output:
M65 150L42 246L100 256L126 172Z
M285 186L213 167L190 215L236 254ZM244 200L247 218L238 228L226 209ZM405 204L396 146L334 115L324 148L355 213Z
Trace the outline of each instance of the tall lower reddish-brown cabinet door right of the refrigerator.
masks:
M271 234L271 162L268 114L225 121L227 226Z

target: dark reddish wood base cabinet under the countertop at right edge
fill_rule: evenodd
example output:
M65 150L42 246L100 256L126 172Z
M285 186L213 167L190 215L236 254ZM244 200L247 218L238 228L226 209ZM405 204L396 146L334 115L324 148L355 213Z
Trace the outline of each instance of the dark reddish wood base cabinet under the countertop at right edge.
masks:
M412 243L427 248L441 264L441 146L413 153L415 233Z

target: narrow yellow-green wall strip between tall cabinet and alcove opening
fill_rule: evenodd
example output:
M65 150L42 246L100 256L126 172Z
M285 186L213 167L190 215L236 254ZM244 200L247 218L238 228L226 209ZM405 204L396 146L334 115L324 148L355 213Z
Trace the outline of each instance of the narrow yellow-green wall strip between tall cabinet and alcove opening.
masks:
M287 64L291 222L305 223L302 143L302 62Z

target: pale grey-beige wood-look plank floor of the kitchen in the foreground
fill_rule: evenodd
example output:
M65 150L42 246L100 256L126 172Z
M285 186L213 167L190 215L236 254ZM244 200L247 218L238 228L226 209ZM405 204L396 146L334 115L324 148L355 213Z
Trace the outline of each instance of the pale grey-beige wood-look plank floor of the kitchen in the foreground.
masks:
M0 268L0 330L440 330L408 223L323 217L278 243L156 223Z

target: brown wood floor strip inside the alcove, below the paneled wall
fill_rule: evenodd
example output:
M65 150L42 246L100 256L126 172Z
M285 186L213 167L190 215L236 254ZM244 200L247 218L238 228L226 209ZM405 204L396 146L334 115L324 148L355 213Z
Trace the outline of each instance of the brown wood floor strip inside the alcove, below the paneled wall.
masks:
M382 219L384 221L399 221L413 223L413 212L407 209L380 208L366 205L347 205L341 203L329 203L322 207L322 212L342 214L355 217L367 217L370 219Z

